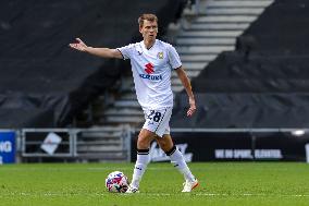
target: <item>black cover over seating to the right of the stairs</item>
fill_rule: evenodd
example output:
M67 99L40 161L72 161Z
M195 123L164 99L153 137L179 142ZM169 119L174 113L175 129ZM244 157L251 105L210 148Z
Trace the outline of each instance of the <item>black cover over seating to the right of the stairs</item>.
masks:
M193 80L197 116L185 119L185 92L172 126L301 128L309 125L309 3L274 1Z

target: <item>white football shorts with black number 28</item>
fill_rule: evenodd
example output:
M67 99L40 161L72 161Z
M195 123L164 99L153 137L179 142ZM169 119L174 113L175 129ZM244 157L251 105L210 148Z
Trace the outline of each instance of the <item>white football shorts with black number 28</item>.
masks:
M172 116L172 107L154 110L144 110L145 124L143 129L149 130L162 137L163 134L170 134L170 119Z

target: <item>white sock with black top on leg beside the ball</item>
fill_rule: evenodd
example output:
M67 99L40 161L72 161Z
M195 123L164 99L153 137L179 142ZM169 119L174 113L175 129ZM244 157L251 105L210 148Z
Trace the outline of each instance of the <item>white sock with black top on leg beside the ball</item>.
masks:
M139 182L149 163L149 149L137 149L137 159L134 167L134 173L131 185L134 187L139 186Z

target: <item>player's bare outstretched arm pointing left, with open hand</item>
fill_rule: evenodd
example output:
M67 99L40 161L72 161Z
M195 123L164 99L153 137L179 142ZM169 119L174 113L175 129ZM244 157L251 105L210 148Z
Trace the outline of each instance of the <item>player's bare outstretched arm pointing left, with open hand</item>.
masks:
M118 49L88 47L79 38L76 38L76 43L71 43L69 46L73 49L78 50L78 51L87 52L87 53L98 56L98 57L102 57L102 58L122 59L122 54Z

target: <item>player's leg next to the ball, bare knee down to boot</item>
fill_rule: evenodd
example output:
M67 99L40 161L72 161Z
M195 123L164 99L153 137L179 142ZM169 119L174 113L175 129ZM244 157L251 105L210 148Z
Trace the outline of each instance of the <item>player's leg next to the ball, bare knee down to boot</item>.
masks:
M137 138L137 158L134 167L132 182L126 193L138 192L139 182L146 171L147 165L149 163L149 147L153 140L154 133L141 129Z

